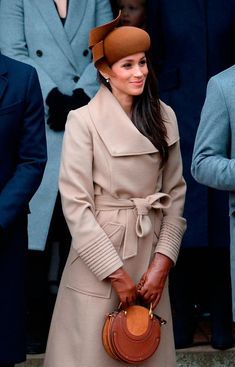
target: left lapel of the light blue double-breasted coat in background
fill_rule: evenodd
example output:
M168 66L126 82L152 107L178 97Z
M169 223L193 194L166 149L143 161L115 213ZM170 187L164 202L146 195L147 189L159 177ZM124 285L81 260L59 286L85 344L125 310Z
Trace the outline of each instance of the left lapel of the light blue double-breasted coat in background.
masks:
M76 61L69 44L68 36L65 32L63 24L60 21L58 13L54 2L48 0L32 0L35 6L38 8L41 16L43 17L45 23L48 26L52 36L54 37L56 43L63 51L64 55L69 59L70 63L76 68Z

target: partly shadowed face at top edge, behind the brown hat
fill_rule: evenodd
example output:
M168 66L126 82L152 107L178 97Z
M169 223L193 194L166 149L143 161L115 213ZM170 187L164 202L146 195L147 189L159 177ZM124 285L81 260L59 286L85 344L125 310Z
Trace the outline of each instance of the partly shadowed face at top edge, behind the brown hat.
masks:
M145 23L145 6L142 0L120 0L120 25L143 27Z

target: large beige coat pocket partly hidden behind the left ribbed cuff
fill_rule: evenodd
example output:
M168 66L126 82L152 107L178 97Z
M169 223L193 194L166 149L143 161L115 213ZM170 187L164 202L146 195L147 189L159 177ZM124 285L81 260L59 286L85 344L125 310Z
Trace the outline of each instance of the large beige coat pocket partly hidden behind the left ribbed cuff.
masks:
M119 223L105 223L102 228L118 252L124 236L125 226ZM110 281L107 279L100 281L73 248L71 248L67 264L68 288L94 297L110 298Z

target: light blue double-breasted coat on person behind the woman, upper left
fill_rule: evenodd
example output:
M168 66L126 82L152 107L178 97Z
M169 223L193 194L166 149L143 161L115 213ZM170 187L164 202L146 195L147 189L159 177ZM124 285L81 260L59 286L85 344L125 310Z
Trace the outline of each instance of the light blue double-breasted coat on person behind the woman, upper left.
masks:
M64 26L53 0L1 0L0 49L36 68L44 100L54 87L69 95L83 88L92 97L98 83L88 48L89 31L110 19L108 0L69 0ZM58 191L62 138L62 132L47 127L48 163L42 184L30 203L32 249L43 250L46 243Z

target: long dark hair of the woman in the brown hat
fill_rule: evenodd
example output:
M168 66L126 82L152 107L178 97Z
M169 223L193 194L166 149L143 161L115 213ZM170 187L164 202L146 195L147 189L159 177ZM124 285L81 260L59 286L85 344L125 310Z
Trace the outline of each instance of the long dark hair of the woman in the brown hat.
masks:
M136 128L158 149L162 166L168 159L167 130L164 124L158 94L158 81L147 56L148 76L144 91L134 97L131 120ZM112 91L109 83L98 73L99 81Z

